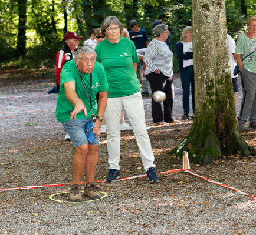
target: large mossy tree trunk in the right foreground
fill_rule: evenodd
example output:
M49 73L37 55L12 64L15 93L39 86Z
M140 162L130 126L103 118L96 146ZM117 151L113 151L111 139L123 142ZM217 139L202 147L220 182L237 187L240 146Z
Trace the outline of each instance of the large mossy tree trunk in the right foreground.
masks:
M182 150L196 163L250 150L238 129L229 72L225 0L193 0L195 119Z

